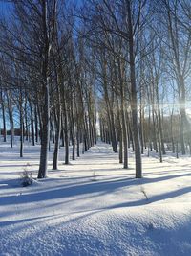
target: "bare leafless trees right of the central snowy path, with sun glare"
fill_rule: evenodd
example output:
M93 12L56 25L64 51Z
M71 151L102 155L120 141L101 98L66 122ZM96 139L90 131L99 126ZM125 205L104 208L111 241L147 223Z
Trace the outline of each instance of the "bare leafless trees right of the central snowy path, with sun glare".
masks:
M182 154L190 148L186 104L191 4L186 0L104 0L90 6L86 28L103 96L101 137L112 143L114 151L119 142L124 168L128 168L132 144L136 177L141 177L144 148L159 151L160 162L167 143L177 156L179 148Z

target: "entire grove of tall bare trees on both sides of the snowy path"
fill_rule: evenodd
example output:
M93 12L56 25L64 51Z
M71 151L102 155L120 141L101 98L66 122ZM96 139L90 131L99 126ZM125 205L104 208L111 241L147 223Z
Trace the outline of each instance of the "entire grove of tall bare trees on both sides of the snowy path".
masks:
M186 152L191 64L189 0L11 1L1 18L1 110L32 144L40 140L38 177L47 175L50 134L53 169L59 146L79 156L100 136L128 168L135 150L142 177L144 149ZM187 98L186 98L187 97ZM4 136L6 140L6 136ZM148 151L149 152L149 151Z

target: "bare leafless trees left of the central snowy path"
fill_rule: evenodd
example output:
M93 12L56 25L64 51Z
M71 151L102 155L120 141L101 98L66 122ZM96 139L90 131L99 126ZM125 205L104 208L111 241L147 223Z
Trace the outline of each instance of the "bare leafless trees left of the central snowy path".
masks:
M33 145L40 137L39 178L47 175L50 134L53 169L57 169L60 138L66 164L70 142L75 159L81 142L87 151L96 141L93 78L86 72L82 39L74 40L73 12L57 0L12 1L10 16L1 21L2 110L6 106L9 110L11 147L13 120L20 124L20 156L24 132L30 130ZM3 120L6 126L5 115Z

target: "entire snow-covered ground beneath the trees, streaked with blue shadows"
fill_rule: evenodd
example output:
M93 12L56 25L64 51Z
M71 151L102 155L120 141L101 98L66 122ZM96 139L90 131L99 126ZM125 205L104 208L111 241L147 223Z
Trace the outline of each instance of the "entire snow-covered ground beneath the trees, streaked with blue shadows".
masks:
M143 156L135 179L110 146L98 145L49 177L21 187L39 146L0 145L0 256L191 255L191 158ZM30 164L30 166L26 167Z

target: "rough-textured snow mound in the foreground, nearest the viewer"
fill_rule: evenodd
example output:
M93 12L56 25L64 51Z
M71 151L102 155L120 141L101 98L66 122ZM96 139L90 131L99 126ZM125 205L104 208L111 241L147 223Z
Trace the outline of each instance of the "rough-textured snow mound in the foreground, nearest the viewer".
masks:
M0 224L1 255L189 256L191 252L191 205L118 208Z

